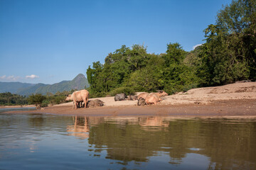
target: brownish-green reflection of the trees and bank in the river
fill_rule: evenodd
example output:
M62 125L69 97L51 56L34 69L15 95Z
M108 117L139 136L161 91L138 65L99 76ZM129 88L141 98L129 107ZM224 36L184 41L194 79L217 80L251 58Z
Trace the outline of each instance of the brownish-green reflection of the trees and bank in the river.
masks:
M255 121L75 116L73 123L69 135L87 138L95 148L90 152L106 150L105 158L117 164L141 164L169 155L169 164L178 165L188 155L202 155L209 160L208 169L256 169Z

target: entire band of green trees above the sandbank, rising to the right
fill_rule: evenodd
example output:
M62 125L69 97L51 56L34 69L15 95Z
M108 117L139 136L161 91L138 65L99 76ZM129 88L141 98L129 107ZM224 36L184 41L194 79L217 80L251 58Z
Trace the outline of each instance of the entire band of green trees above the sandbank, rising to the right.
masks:
M177 42L155 55L143 45L120 49L87 69L91 96L164 90L169 94L198 86L256 79L256 1L224 6L205 30L205 43L186 52Z

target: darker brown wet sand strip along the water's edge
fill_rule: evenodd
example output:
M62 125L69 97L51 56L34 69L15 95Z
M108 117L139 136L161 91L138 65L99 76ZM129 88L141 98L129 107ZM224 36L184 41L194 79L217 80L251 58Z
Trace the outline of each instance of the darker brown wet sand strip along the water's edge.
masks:
M4 113L46 113L81 116L171 116L174 118L256 118L256 99L213 101L208 104L178 104L155 106L102 106L78 108L50 106L36 111L9 111Z

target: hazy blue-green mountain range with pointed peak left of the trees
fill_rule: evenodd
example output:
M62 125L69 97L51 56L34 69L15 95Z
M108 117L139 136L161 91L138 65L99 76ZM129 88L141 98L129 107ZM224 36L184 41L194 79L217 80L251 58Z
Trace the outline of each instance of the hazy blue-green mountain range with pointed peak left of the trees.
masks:
M1 84L0 84L0 87L1 87ZM75 79L73 79L72 81L61 81L60 83L52 84L52 85L50 84L30 84L30 86L28 86L28 84L24 84L23 86L21 85L22 83L19 83L19 87L17 88L14 84L13 88L9 88L8 91L13 94L20 94L23 96L29 96L31 94L46 95L48 92L55 94L57 91L60 91L60 92L70 91L72 89L80 90L90 86L83 74L78 74L78 76L75 77ZM3 89L7 89L6 86L8 86L8 84L5 84L5 87ZM3 91L3 92L6 92L6 91Z

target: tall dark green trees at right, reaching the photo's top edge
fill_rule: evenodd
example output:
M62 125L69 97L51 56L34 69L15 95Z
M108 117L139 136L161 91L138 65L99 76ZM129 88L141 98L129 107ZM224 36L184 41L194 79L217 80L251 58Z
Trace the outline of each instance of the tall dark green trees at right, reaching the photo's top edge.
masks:
M232 1L204 30L206 43L198 69L203 86L256 78L256 1Z

